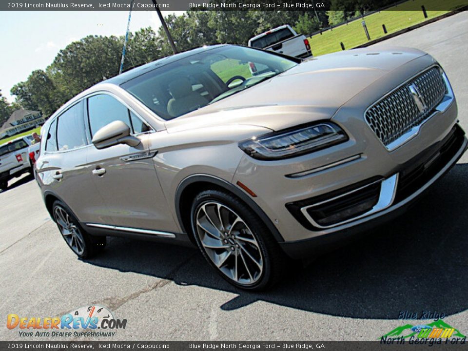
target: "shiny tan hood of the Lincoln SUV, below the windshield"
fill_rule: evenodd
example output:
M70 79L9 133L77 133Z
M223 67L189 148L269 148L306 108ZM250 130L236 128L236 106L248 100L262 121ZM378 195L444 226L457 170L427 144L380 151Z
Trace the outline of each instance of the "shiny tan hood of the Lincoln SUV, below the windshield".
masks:
M329 119L348 100L405 63L426 55L408 48L355 49L308 59L292 69L166 122L168 132L246 124L273 131Z

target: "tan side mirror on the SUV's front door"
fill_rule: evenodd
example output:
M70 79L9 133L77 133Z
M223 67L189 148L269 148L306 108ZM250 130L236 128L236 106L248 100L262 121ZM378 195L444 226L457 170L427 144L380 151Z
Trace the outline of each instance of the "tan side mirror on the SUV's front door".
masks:
M128 125L117 120L99 129L91 142L97 149L105 149L117 144L127 144L135 147L140 143L140 140L130 135Z

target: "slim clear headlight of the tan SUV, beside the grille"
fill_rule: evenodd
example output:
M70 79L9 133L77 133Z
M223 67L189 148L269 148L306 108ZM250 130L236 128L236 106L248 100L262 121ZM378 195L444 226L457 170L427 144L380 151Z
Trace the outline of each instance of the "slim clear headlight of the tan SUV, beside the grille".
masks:
M270 160L311 153L346 140L348 136L340 127L322 122L244 140L239 147L249 156Z

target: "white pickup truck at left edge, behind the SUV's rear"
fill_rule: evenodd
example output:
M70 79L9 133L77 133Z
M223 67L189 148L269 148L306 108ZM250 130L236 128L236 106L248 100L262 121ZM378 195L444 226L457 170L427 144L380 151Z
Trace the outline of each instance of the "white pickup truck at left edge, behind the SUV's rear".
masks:
M8 188L8 181L23 173L32 172L29 147L32 137L18 137L0 145L0 190Z

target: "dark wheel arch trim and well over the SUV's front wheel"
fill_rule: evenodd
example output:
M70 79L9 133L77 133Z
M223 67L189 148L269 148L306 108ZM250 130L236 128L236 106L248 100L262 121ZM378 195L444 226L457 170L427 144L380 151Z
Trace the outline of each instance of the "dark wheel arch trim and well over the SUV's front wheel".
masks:
M188 234L190 240L195 241L193 235L190 235L190 216L184 214L190 213L190 208L192 207L192 201L194 200L195 195L207 189L226 191L238 197L260 217L277 242L284 242L283 237L273 225L270 218L265 214L265 212L263 212L260 206L258 206L254 200L252 200L242 190L236 188L232 183L229 183L224 179L202 174L185 178L180 182L176 189L175 205L177 220L182 231Z

